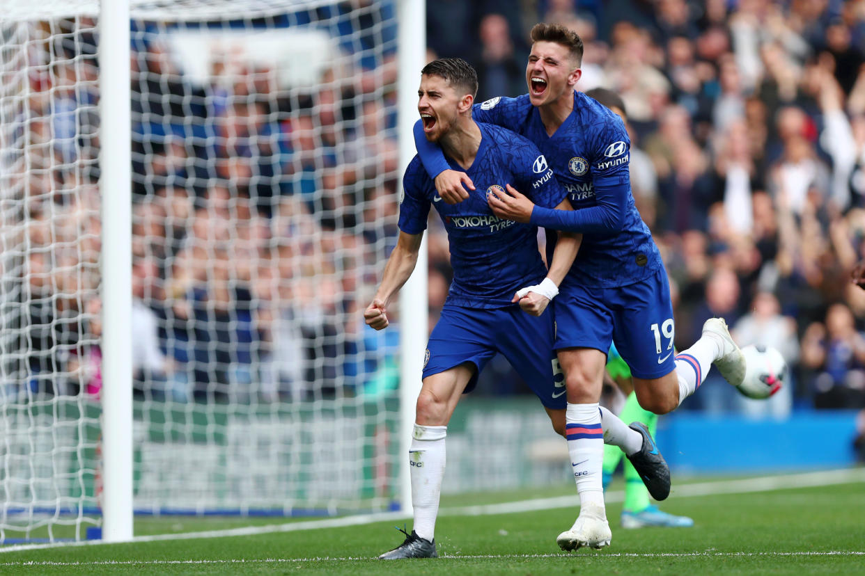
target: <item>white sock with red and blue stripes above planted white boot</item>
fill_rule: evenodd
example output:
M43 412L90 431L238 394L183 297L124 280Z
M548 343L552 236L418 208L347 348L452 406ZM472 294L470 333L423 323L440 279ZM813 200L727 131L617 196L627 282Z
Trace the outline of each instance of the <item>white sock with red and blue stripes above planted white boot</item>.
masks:
M604 486L601 482L604 432L598 408L598 402L568 403L565 413L567 452L571 456L573 479L580 494L580 510L586 505L604 510Z

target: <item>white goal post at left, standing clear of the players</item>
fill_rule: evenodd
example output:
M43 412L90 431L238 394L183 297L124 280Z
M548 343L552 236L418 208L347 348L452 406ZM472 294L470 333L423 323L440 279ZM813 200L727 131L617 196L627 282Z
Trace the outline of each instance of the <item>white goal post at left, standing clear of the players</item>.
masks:
M129 0L99 12L102 199L102 538L128 541L132 520L132 158ZM106 81L110 79L110 81Z

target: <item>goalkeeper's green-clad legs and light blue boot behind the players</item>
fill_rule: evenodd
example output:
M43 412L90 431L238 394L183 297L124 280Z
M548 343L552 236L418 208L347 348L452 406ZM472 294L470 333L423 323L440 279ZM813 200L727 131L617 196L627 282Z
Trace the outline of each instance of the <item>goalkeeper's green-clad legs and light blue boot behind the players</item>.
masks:
M627 396L625 408L618 415L625 422L643 422L649 428L653 438L657 429L657 414L640 407L637 395L631 385L631 369L625 360L618 355L616 345L612 345L606 357L606 371L612 380ZM604 490L610 484L613 472L622 460L622 450L612 444L604 445ZM627 459L625 459L625 506L622 509L622 528L644 528L646 526L663 526L668 528L687 528L694 526L694 521L688 516L674 516L657 509L649 500L643 480Z

